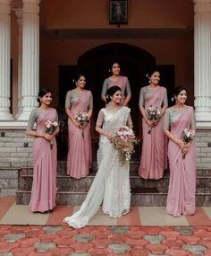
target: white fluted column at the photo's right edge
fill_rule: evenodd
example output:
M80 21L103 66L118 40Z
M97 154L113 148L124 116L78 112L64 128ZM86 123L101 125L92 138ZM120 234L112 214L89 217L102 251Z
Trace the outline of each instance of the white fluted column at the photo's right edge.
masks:
M211 0L194 0L194 92L198 127L211 124Z

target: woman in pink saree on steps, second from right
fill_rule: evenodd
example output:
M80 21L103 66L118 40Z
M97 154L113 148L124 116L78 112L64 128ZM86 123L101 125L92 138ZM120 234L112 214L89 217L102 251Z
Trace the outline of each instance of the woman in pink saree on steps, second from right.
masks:
M148 74L149 84L142 87L139 94L139 110L142 114L142 151L139 165L139 176L143 179L161 179L164 175L167 156L165 154L166 138L163 130L163 119L152 122L146 110L149 106L162 108L162 116L168 105L165 87L159 85L160 73L153 69ZM148 128L153 127L148 134Z

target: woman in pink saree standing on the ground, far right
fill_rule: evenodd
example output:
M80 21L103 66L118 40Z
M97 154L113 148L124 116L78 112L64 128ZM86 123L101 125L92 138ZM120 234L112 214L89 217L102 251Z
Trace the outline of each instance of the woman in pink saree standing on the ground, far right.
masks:
M185 128L195 130L195 117L193 108L185 105L187 93L184 87L176 87L173 97L175 104L166 110L164 125L169 137L170 167L166 213L186 216L193 215L196 210L196 146L194 140L185 145L181 134Z

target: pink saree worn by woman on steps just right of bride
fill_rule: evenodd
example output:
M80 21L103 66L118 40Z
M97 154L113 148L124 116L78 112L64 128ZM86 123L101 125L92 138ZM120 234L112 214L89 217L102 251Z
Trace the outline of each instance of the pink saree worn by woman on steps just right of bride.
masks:
M165 88L158 87L150 90L144 99L144 106L147 109L150 105L161 108L165 99ZM156 127L148 134L148 125L142 119L142 150L139 165L139 176L143 179L161 179L167 165L167 140L163 129L163 118Z

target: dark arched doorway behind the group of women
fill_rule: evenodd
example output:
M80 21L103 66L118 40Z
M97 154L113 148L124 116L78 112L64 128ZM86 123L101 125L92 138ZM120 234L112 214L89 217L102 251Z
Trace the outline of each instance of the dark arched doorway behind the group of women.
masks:
M144 49L123 43L109 43L90 49L78 58L77 66L59 66L59 106L63 111L65 94L73 89L73 75L76 72L86 76L86 88L93 93L94 109L93 118L91 120L91 137L93 160L96 160L98 135L95 131L98 111L105 106L101 101L100 95L102 85L106 77L110 76L109 69L114 62L118 62L121 67L121 75L126 75L131 84L131 119L136 135L141 138L141 117L139 114L139 91L140 88L148 84L146 74L148 68L156 66L161 71L161 85L167 87L168 91L174 87L174 66L157 66L156 57L153 57ZM62 108L61 108L62 107ZM67 137L67 129L63 129L63 139L60 144L65 142ZM58 145L59 146L59 145ZM67 144L63 146L63 154L66 155ZM133 156L134 161L139 161L141 146L137 146L136 154ZM60 151L59 151L60 152ZM58 155L59 156L59 155ZM60 156L59 156L60 157ZM63 158L63 157L62 157Z

